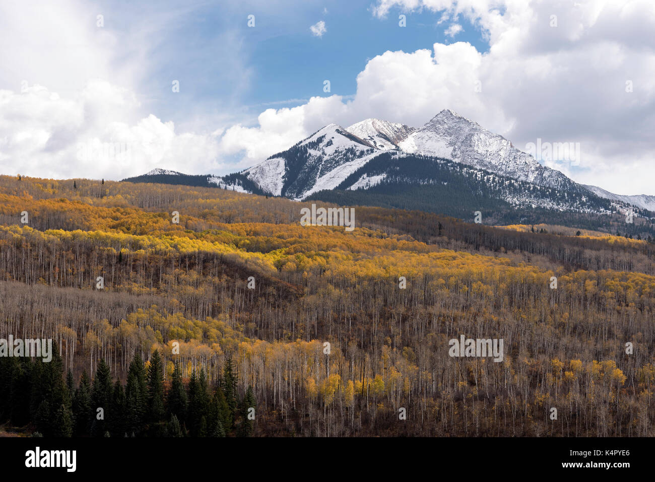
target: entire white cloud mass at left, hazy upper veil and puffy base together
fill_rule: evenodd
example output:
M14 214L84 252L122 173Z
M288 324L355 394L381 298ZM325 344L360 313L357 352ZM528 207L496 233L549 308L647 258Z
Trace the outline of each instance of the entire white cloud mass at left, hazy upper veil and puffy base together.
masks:
M115 19L77 0L0 4L1 174L121 179L157 166L224 167L221 129L181 131L149 113L147 89L135 87L152 77L149 29L173 19L149 16L134 31L122 22L120 34L109 28Z

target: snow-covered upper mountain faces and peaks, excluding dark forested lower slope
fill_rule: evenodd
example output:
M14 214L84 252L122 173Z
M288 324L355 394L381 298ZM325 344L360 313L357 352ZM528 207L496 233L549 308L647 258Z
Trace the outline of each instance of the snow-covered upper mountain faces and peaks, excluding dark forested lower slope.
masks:
M384 151L449 159L540 187L580 191L561 172L542 166L499 134L449 109L419 129L379 119L366 119L347 129L329 124L287 151L240 174L272 195L302 199L324 189L334 189L354 170ZM362 177L353 189L367 189L379 183L381 176Z

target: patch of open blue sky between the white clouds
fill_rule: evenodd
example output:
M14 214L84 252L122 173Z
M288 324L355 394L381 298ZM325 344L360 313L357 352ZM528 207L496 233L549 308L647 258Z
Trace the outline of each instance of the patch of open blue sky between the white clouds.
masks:
M142 14L149 16L147 10ZM254 28L248 27L250 14ZM404 28L400 14L406 17ZM320 20L327 31L317 37L310 26ZM159 65L146 81L147 91L155 92L148 107L158 117L182 123L204 109L230 109L256 122L267 107L292 107L312 96L354 95L358 73L386 50L414 52L453 41L488 50L481 31L466 19L458 20L463 29L454 38L444 33L453 22L439 20L430 10L402 8L378 18L369 1L307 2L277 11L244 3L201 3L179 11L174 22L154 33L152 55ZM235 63L238 68L231 68ZM170 102L168 79L180 81L175 102ZM326 79L329 94L323 91Z

